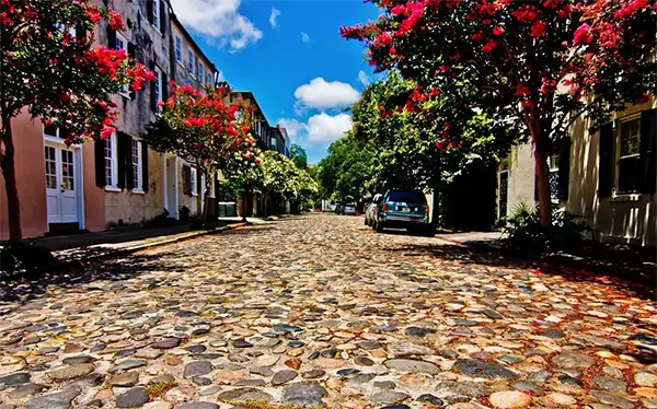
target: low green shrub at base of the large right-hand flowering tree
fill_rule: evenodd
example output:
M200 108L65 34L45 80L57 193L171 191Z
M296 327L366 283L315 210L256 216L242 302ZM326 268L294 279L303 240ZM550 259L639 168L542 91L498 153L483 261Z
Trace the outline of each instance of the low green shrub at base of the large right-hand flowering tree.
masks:
M518 204L505 220L503 241L507 248L527 252L555 252L576 247L583 242L587 226L575 214L561 209L552 211L552 224L544 227L539 209Z

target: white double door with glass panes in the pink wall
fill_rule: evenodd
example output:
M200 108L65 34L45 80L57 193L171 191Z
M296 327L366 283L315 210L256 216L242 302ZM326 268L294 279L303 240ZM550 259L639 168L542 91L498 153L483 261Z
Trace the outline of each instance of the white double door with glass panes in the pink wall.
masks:
M73 150L46 145L48 223L79 223L78 161Z

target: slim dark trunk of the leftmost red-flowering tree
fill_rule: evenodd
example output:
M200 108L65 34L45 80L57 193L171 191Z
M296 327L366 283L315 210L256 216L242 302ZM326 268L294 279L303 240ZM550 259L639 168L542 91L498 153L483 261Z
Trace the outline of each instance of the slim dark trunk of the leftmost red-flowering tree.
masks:
M9 215L9 243L14 245L23 239L21 232L21 203L19 201L19 189L16 186L16 171L14 163L14 144L11 130L11 119L2 118L2 144L0 150L0 170L4 176L4 188L7 191L7 207Z

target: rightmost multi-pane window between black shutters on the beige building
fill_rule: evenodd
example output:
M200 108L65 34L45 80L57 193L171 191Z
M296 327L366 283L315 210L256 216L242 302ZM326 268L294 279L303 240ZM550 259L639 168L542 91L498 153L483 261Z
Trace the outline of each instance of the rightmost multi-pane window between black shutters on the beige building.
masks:
M641 173L641 119L621 122L619 130L618 155L618 194L634 194L638 191Z

